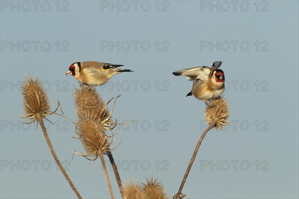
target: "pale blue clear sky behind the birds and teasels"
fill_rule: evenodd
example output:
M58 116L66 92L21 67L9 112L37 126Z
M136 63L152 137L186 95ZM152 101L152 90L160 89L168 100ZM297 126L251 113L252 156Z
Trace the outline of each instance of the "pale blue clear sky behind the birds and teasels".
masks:
M20 82L31 70L54 99L52 108L60 100L76 120L72 89L78 83L65 77L76 61L123 64L135 71L97 88L105 101L122 95L113 118L141 115L115 136L115 146L121 141L113 154L123 182L153 176L168 196L177 192L205 127L205 104L186 98L192 83L171 73L222 61L233 125L212 130L203 140L185 198L299 198L297 0L0 4L0 198L76 198L40 127L35 131L14 116L23 113ZM56 115L49 119L52 144L81 196L109 198L100 161L88 167L89 161L75 155L67 162L72 150L83 151L72 138L74 125Z

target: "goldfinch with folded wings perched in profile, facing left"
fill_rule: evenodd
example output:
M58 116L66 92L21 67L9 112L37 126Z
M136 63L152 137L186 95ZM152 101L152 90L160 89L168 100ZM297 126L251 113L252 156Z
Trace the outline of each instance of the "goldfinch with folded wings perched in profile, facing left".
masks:
M66 76L72 75L79 82L100 86L108 82L112 76L122 72L134 72L129 69L118 69L124 65L115 65L101 62L75 62L70 65Z

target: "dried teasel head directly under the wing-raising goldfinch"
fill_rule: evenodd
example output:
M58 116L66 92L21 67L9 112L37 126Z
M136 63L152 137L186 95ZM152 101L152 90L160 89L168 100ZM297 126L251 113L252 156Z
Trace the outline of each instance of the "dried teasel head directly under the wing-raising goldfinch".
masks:
M215 124L216 129L223 130L224 125L228 125L228 116L228 104L223 98L212 100L205 108L205 118L208 125Z

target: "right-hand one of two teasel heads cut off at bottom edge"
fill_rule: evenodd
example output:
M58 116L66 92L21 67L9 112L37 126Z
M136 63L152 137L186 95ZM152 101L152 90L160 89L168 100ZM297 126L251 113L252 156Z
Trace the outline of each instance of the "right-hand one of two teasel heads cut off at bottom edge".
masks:
M143 185L143 192L148 199L168 199L161 181L158 179L147 178L147 183Z

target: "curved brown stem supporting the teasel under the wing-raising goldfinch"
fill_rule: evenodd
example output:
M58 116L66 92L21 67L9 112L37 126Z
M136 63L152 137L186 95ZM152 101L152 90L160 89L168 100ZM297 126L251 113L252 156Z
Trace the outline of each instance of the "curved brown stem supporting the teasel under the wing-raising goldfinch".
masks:
M199 149L199 147L200 147L200 144L201 144L201 142L202 142L204 136L207 134L207 132L208 132L209 130L211 130L211 128L213 128L213 127L215 126L215 123L216 123L216 122L212 123L209 127L207 127L207 128L203 131L201 137L199 138L199 140L198 140L198 142L197 142L197 145L196 145L196 147L195 147L195 150L194 150L194 152L193 152L192 158L191 158L191 160L190 160L190 163L189 163L189 165L188 165L188 168L187 168L187 170L186 170L186 172L185 172L185 175L184 175L184 178L183 178L183 180L182 180L182 183L181 183L181 185L180 185L180 187L179 187L179 189L178 189L177 194L174 195L173 199L182 199L182 198L185 197L185 195L182 195L182 190L183 190L183 187L184 187L185 182L186 182L186 180L187 180L188 174L189 174L189 172L190 172L190 170L191 170L191 167L192 167L192 165L193 165L193 162L194 162L194 160L195 160L195 157L196 157L196 154L197 154L198 149Z

